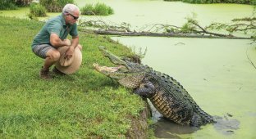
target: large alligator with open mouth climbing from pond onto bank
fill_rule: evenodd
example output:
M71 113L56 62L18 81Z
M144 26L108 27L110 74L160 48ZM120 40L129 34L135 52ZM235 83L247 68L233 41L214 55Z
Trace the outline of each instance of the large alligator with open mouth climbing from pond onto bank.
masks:
M109 58L117 67L107 67L94 63L94 69L109 78L117 80L124 87L131 88L135 94L149 98L153 106L166 119L181 125L200 127L215 123L212 115L204 112L181 83L167 74L153 70L148 65L118 57L100 46L103 56Z

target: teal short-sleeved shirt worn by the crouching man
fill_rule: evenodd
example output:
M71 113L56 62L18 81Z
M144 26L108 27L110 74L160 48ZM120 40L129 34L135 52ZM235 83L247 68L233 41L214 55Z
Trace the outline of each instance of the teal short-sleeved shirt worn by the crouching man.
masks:
M63 15L56 16L48 20L43 28L39 31L39 34L35 35L31 47L35 47L40 44L51 44L50 35L57 34L59 38L66 39L68 34L71 36L77 36L77 25L66 25Z

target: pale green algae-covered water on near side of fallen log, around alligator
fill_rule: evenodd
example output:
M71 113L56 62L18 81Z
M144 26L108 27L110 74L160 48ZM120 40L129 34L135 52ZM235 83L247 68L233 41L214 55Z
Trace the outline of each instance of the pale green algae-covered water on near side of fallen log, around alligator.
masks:
M204 111L231 122L208 124L194 130L154 117L158 121L155 126L157 137L256 137L256 70L250 63L256 63L256 49L249 44L249 40L147 37L113 39L135 47L137 52L139 47L142 50L147 48L142 61L145 65L176 78Z

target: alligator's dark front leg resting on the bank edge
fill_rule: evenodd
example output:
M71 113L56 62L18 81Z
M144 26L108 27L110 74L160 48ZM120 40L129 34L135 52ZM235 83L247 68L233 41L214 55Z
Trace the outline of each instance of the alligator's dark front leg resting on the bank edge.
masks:
M155 89L153 83L147 81L142 86L143 87L139 87L139 88L135 89L135 91L134 91L135 94L149 98L149 97L153 96L153 94L156 93L156 89Z

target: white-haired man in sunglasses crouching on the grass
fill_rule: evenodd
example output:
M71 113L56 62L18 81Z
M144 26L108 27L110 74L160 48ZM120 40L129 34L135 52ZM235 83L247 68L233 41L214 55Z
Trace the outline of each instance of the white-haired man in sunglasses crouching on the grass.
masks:
M75 47L80 50L79 37L76 21L80 16L80 10L74 4L66 4L62 9L62 14L48 20L43 28L34 37L32 50L35 55L45 59L43 67L40 70L40 78L51 78L49 74L50 67L60 59L59 47L68 46L66 49L66 59L70 59L74 53ZM66 39L67 35L72 36L71 41ZM53 72L59 72L56 67Z

